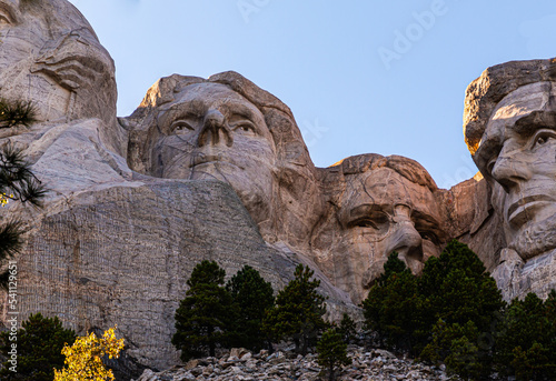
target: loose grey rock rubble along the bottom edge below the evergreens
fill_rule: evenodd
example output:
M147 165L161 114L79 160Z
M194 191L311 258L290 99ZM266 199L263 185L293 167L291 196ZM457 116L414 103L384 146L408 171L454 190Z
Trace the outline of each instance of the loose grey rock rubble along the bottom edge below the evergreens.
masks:
M350 345L348 355L353 363L342 368L338 380L459 380L457 377L447 375L444 367L428 367L409 359L398 359L385 350L366 350ZM232 349L230 353L219 358L191 360L185 365L159 373L146 370L137 381L325 380L326 377L320 372L315 354L301 357L288 351L278 351L270 355L267 351L252 354L247 350Z

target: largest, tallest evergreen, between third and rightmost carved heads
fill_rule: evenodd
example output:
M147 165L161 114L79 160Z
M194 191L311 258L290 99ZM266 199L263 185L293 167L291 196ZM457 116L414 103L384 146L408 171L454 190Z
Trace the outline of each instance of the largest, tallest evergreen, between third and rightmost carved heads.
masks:
M445 361L449 371L474 379L488 377L505 303L480 259L466 244L449 242L439 258L425 263L419 292L423 327L443 325L434 340L419 339L426 344L421 359Z

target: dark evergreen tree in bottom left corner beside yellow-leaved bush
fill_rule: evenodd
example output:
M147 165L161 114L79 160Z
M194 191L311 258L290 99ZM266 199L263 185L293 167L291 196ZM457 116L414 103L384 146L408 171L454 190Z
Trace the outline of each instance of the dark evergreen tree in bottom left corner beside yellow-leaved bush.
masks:
M17 340L10 340L10 337ZM64 344L71 345L75 341L76 332L64 329L58 318L43 318L40 312L31 314L22 322L17 335L10 335L10 332L0 333L0 353L10 360L12 344L16 344L17 351L17 372L10 370L14 364L7 361L0 370L0 378L7 381L51 381L54 378L54 368L63 367Z

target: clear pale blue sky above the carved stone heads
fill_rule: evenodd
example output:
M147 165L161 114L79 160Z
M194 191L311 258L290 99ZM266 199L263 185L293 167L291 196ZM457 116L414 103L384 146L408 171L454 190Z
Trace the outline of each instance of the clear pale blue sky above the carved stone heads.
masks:
M172 73L236 70L288 104L316 166L419 161L441 188L477 171L467 84L556 56L554 0L71 0L116 61L118 114Z

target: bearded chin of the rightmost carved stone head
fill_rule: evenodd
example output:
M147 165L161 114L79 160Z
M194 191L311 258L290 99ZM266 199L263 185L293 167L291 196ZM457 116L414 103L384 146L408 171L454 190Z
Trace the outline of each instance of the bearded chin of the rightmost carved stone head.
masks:
M520 231L509 243L524 260L556 249L556 214Z

